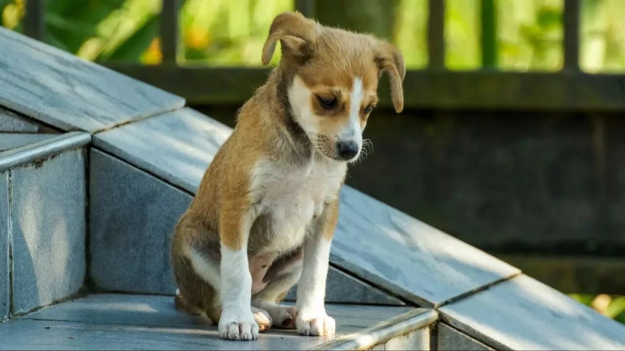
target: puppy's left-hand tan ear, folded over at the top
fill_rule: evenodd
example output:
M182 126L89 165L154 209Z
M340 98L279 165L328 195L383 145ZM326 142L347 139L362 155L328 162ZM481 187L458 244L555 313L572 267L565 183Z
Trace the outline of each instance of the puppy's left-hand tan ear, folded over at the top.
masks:
M262 47L262 64L267 65L276 51L276 42L282 46L282 55L306 58L312 54L316 33L315 22L299 12L283 12L274 18L269 37Z

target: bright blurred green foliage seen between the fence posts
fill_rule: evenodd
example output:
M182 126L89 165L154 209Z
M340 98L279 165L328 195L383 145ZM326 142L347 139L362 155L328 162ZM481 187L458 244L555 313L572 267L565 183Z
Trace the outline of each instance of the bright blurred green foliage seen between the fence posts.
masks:
M21 31L26 0L0 0L2 25ZM446 0L446 65L452 70L487 64L502 70L557 71L562 67L565 0L492 0L486 33L480 1ZM582 0L581 66L591 72L625 71L625 1ZM491 2L488 3L489 6ZM294 0L186 0L181 22L181 64L257 66L267 29ZM394 42L409 69L427 65L427 0L317 1L322 23L368 31ZM161 0L46 0L44 40L91 60L158 64ZM492 31L492 32L490 32ZM494 41L492 40L494 38ZM272 61L277 62L277 55Z

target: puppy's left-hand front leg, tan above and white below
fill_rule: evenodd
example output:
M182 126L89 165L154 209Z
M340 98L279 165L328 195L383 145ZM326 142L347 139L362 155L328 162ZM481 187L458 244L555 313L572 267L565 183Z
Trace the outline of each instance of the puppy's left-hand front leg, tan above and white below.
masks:
M247 239L254 220L245 204L229 200L219 215L221 237L221 317L219 336L230 340L253 340L258 324L251 310L252 276L247 262Z

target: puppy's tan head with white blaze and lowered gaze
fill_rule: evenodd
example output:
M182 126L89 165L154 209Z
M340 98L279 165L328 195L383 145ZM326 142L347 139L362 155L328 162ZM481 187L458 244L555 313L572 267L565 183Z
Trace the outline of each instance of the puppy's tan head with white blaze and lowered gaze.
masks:
M297 12L279 14L262 50L268 64L280 41L280 66L289 74L288 100L293 117L315 149L329 159L355 161L362 131L377 104L377 82L391 79L392 102L404 106L406 74L399 50L373 36L321 26Z

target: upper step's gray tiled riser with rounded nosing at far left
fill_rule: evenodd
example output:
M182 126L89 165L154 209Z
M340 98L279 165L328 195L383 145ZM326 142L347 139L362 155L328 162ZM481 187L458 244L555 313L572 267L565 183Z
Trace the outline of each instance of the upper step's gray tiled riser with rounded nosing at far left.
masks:
M91 136L25 134L0 152L0 320L78 292Z

